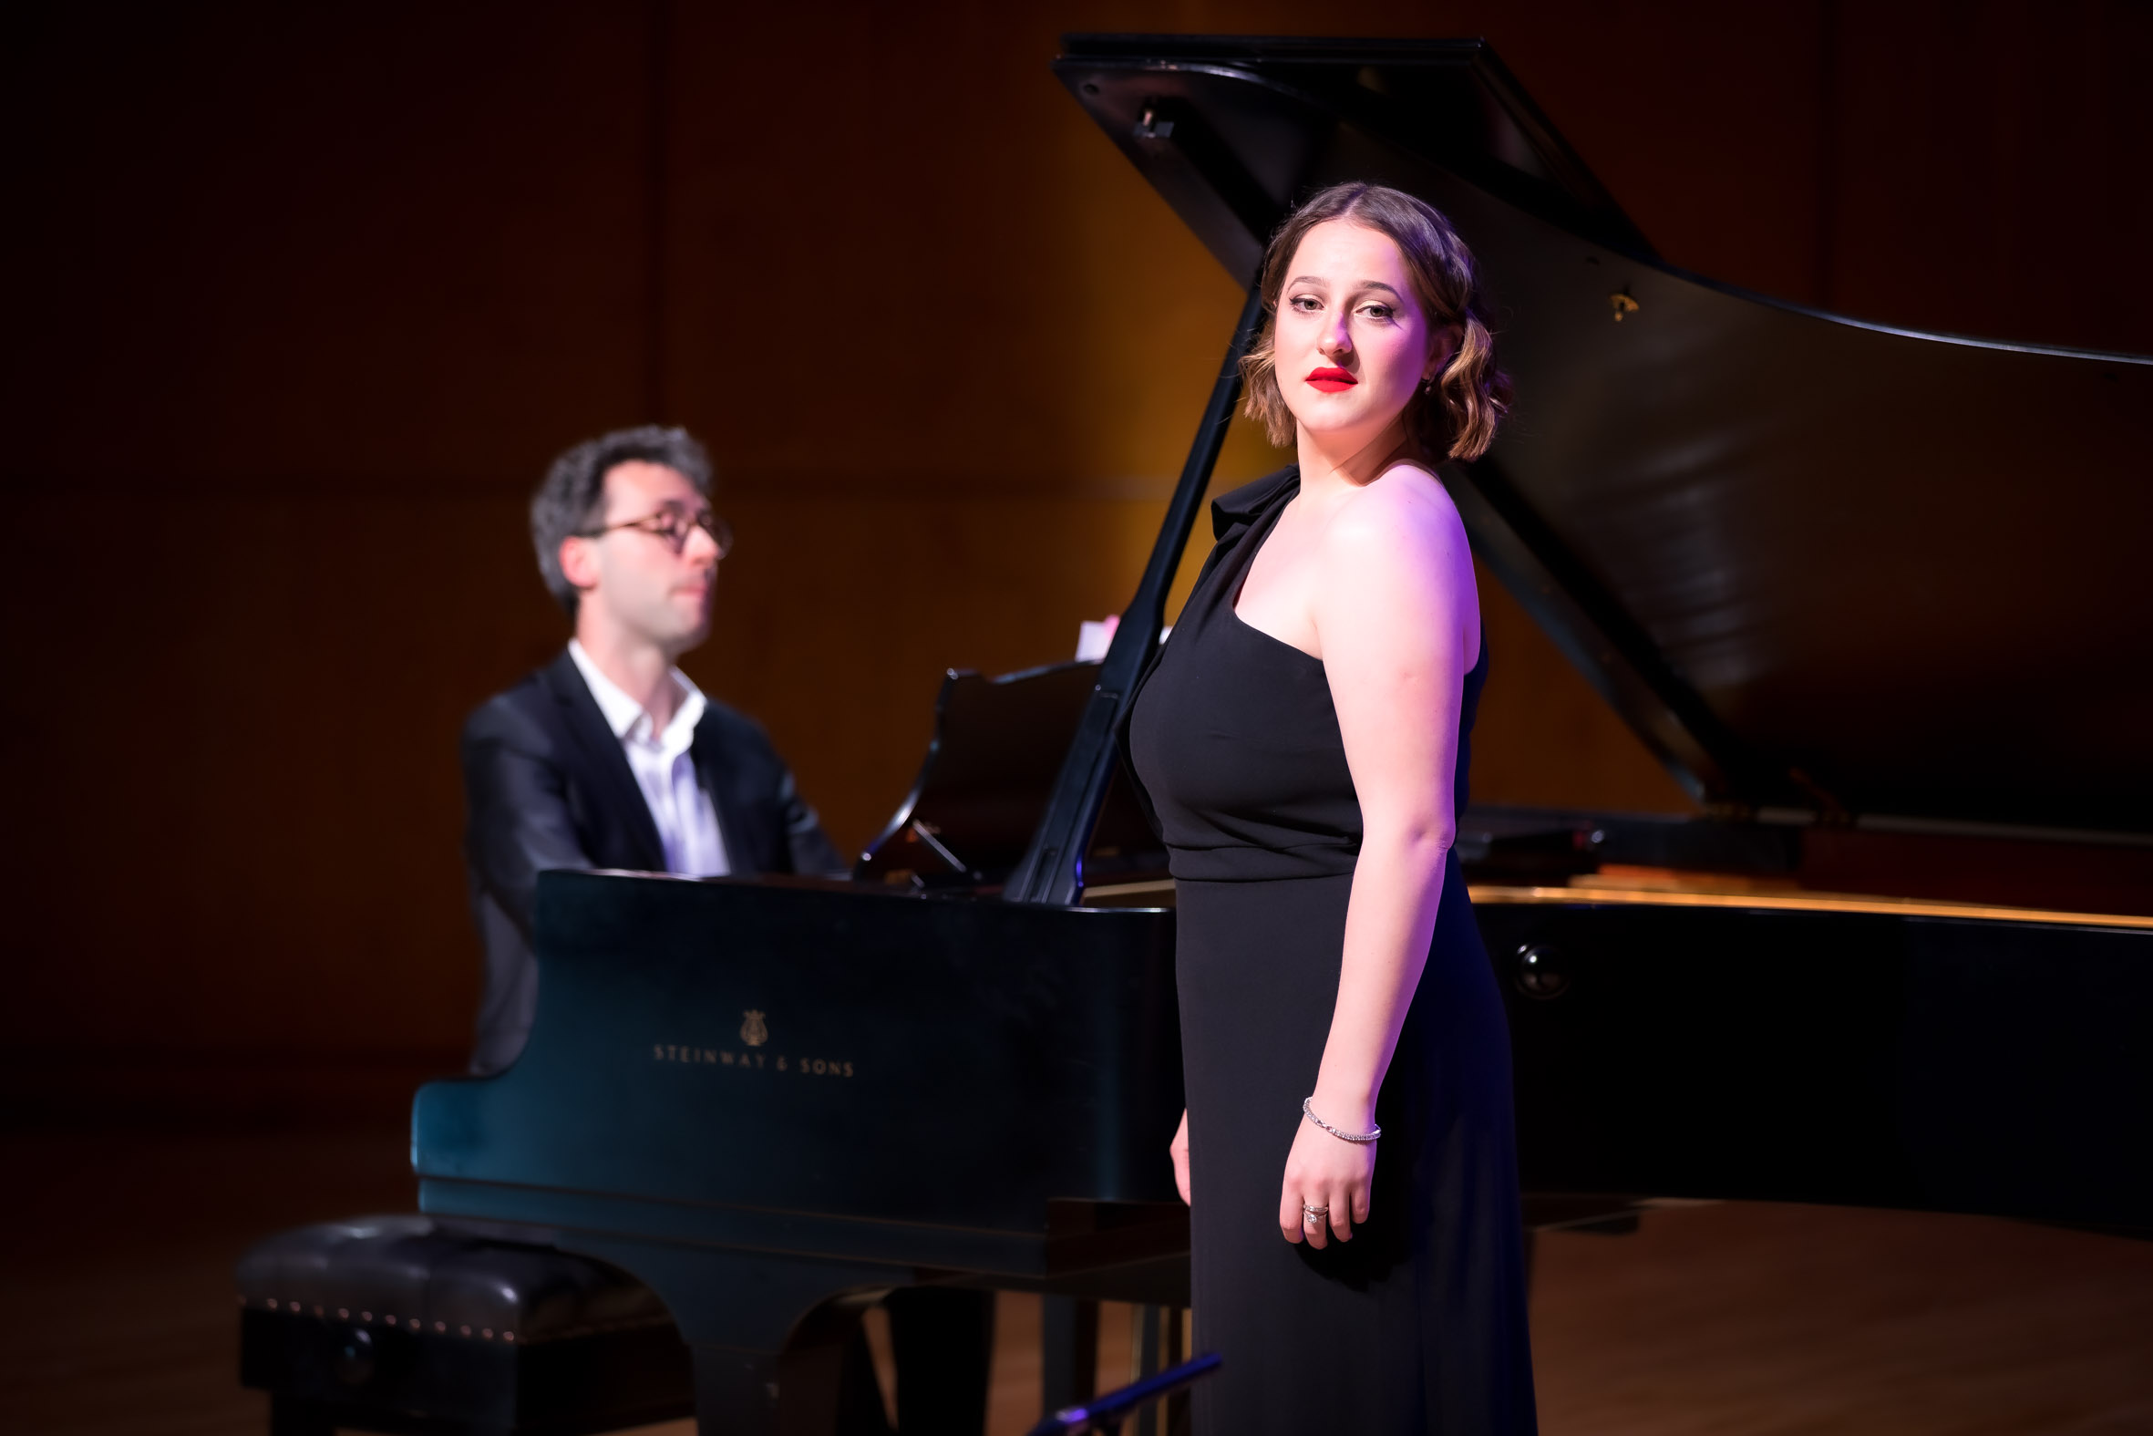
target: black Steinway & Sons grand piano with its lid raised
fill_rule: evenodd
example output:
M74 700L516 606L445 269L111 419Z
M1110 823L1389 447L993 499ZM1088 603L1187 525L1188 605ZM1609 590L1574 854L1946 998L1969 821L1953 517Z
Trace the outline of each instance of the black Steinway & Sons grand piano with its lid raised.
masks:
M1443 478L1701 814L1462 818L1531 1221L2153 1229L2153 362L1684 273L1477 41L1072 37L1053 71L1240 282L1348 177L1486 267L1520 405ZM422 1208L650 1283L706 1432L829 1430L893 1287L1186 1303L1171 889L1113 726L1255 321L1100 663L952 676L850 885L547 874L530 1046L418 1094Z

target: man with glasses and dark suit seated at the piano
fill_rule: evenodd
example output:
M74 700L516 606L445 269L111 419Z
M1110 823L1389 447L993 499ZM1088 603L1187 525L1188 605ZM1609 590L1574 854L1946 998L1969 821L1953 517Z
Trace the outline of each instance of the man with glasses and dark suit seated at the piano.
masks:
M577 444L532 495L532 543L575 637L463 728L465 859L487 952L480 1074L530 1036L540 872L846 870L762 728L676 667L710 633L732 547L702 446L659 426Z

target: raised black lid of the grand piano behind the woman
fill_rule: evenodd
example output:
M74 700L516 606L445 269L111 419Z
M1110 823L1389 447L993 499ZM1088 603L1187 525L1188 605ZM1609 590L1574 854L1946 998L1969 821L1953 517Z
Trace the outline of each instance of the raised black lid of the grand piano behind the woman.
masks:
M1451 217L1518 392L1445 467L1475 549L1707 809L2153 840L2153 360L1684 273L1481 41L1055 73L1240 282L1328 183Z

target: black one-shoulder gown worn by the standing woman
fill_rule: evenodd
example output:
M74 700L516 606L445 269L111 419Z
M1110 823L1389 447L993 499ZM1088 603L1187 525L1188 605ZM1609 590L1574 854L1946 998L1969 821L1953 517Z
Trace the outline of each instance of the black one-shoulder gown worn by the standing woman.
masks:
M1376 1104L1367 1225L1279 1236L1279 1182L1337 999L1361 803L1320 659L1234 614L1298 491L1214 504L1219 545L1139 689L1126 751L1173 865L1201 1436L1531 1432L1509 1033L1455 855ZM1464 682L1458 805L1486 646Z

